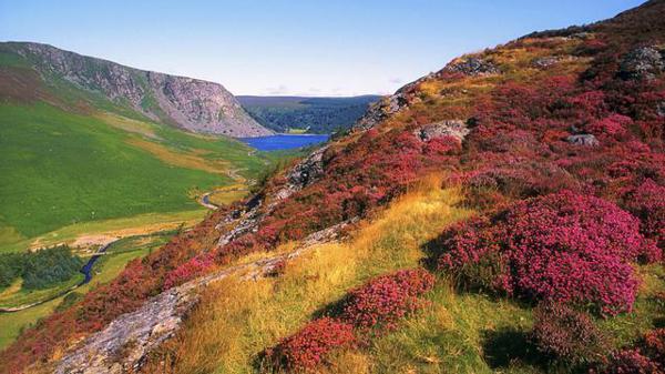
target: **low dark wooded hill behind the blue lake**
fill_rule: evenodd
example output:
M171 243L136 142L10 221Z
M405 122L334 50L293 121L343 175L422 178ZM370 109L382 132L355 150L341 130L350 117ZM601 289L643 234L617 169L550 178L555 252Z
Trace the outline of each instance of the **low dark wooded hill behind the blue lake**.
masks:
M331 133L348 129L378 95L351 98L248 97L237 99L264 127L276 132Z

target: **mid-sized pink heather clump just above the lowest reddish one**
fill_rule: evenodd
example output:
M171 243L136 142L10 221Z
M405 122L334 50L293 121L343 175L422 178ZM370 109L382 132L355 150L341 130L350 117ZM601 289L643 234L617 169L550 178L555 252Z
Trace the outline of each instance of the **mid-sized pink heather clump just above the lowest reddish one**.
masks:
M422 269L376 277L349 293L341 319L359 328L392 330L400 319L423 305L419 296L433 285L434 276Z

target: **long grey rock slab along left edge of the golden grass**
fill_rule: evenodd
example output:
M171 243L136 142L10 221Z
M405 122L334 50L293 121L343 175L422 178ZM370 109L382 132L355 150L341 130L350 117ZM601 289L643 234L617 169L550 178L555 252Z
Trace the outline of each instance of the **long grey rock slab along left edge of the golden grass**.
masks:
M270 275L285 261L293 260L314 245L338 239L348 222L316 232L295 251L231 266L165 291L135 312L117 317L106 328L89 336L57 363L57 374L120 374L141 367L146 355L172 337L208 284L236 275L254 281Z

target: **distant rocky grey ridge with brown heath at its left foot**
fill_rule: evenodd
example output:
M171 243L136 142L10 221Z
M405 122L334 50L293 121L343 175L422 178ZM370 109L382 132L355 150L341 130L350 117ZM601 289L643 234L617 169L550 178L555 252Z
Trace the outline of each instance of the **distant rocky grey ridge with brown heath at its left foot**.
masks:
M27 85L37 89L23 92L25 95L16 92L14 84L0 83L0 98L66 101L62 98L66 92L60 87L69 83L70 91L79 91L75 92L76 107L82 101L99 108L101 97L150 120L192 132L236 138L272 133L254 121L218 83L129 68L40 43L0 43L0 55L2 80L29 83ZM11 69L17 65L28 70ZM39 93L42 95L30 98Z

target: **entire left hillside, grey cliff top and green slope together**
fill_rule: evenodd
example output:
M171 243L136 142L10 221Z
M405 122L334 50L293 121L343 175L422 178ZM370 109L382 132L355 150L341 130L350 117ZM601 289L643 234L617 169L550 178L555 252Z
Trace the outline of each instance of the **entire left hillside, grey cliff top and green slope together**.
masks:
M275 159L224 132L269 133L216 83L0 43L0 252L83 222L203 216L196 195L247 184Z

